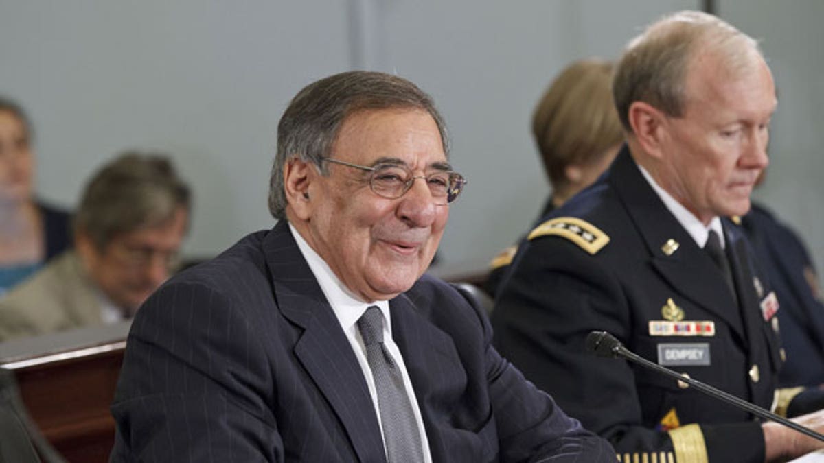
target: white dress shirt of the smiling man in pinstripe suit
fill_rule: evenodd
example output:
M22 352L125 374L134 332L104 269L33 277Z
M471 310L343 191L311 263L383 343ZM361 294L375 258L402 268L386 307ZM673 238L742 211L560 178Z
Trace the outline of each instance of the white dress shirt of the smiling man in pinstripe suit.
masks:
M303 239L300 233L295 230L292 224L289 224L289 231L292 232L297 247L300 249L303 258L307 260L311 273L315 275L317 283L321 286L321 291L332 306L332 311L335 311L335 316L338 318L340 327L346 334L346 339L349 339L349 344L358 358L361 370L363 370L363 377L366 378L366 384L369 386L369 395L372 396L372 405L375 407L375 414L377 421L381 425L381 433L383 434L383 423L381 422L381 413L377 405L377 389L375 388L375 380L372 378L372 369L369 368L369 362L366 356L366 344L363 344L360 330L358 330L358 320L363 313L366 312L369 306L378 306L383 314L383 344L386 350L391 353L392 358L400 367L401 376L404 379L404 388L406 394L409 395L410 403L412 405L412 412L414 414L415 423L418 424L420 432L420 441L423 445L424 463L432 463L432 455L429 453L429 442L426 437L426 430L424 429L424 419L421 417L420 409L418 407L418 400L415 398L414 390L412 389L412 381L410 381L409 373L406 372L406 364L404 358L400 354L395 340L392 339L392 317L389 311L388 301L363 302L356 297L349 288L341 283L339 278L330 269L329 264L318 255L315 250Z

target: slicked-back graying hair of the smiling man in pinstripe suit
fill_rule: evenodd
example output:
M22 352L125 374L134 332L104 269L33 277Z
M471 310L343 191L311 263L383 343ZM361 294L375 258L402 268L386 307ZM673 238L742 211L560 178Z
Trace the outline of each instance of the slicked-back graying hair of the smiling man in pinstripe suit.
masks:
M383 72L342 72L297 92L278 124L278 152L269 178L272 217L286 217L283 166L288 160L297 157L313 162L325 175L322 159L330 156L346 118L361 111L406 108L425 110L432 116L441 134L443 152L448 156L447 127L432 97L402 77Z

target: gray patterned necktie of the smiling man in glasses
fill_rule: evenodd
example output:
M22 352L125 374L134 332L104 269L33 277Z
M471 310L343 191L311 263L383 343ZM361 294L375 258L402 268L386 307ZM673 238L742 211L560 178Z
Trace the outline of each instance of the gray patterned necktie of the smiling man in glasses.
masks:
M369 306L358 320L366 357L377 389L377 408L380 410L384 445L389 463L419 463L421 455L418 424L412 414L409 395L406 395L403 376L386 346L383 344L383 316L377 306Z

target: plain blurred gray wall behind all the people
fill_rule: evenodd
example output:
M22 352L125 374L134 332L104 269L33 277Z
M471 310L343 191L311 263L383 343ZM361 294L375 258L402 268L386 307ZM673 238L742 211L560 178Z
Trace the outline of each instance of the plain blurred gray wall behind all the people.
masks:
M452 164L471 182L441 260L477 264L526 231L549 193L529 119L555 74L576 58L615 58L649 21L701 3L0 0L0 93L34 119L38 193L68 208L115 152L171 152L194 185L185 254L209 256L273 224L275 131L295 92L353 68L397 73L435 97ZM824 257L824 2L715 3L762 39L780 87L758 196Z

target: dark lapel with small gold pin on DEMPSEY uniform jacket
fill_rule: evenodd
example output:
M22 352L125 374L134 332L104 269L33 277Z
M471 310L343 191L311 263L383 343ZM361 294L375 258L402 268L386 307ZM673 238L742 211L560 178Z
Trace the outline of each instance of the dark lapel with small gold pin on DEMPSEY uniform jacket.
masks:
M642 236L653 268L682 297L723 319L743 341L745 334L741 316L721 271L658 198L626 146L612 169L614 173L609 181ZM662 246L671 239L677 241L679 247L667 255ZM691 314L686 316L690 318Z

